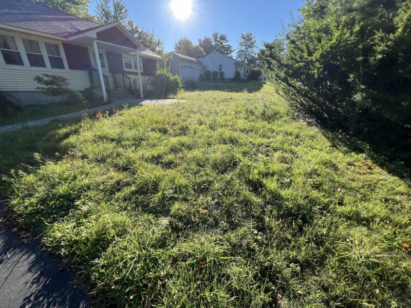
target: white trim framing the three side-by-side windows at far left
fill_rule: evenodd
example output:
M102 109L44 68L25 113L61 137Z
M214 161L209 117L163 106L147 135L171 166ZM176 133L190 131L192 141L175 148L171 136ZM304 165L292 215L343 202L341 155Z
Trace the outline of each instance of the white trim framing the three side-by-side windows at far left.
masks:
M67 59L66 59L66 54L64 52L63 44L61 42L51 41L51 40L47 40L47 39L36 37L36 36L28 36L28 35L25 35L25 34L16 34L16 33L8 32L8 31L0 31L0 34L9 35L9 36L14 37L14 40L15 40L17 48L18 48L18 52L20 52L20 55L23 59L23 64L24 64L24 65L6 64L6 62L3 59L3 55L0 52L0 65L3 68L53 71L53 72L69 71L68 63L67 63ZM27 57L27 54L26 54L26 49L24 48L22 38L27 38L28 40L37 41L39 43L40 50L42 51L42 54L43 54L44 62L46 63L46 67L30 66L30 62L28 60L28 57ZM63 59L64 69L63 68L52 68L51 67L50 61L48 59L48 54L47 54L47 51L46 51L46 46L44 45L44 43L50 43L50 44L55 44L55 45L59 46L60 54L61 54L61 57Z

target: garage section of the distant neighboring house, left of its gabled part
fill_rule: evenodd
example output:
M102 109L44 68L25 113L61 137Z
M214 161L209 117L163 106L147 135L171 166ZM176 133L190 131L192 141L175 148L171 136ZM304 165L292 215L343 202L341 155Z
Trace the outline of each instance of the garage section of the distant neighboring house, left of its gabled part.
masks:
M200 77L202 63L191 56L173 52L169 64L171 73L179 75L182 80L194 79L197 81Z

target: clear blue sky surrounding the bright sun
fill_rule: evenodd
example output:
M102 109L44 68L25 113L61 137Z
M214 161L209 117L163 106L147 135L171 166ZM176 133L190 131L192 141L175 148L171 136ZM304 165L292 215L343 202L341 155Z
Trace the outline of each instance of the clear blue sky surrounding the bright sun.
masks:
M298 8L304 5L304 0L193 0L191 16L178 20L170 7L171 0L124 2L136 24L154 29L164 40L166 51L173 50L174 43L182 36L197 44L198 38L211 36L213 32L227 34L234 48L240 33L252 32L261 45L281 32L281 20L288 24L291 13L297 17ZM90 9L94 10L94 6Z

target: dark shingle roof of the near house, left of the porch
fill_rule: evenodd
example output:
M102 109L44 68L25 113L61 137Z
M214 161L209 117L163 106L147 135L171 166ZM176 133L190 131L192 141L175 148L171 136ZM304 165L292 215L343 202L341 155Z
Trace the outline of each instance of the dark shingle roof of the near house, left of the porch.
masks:
M27 0L0 0L0 24L63 37L101 26Z

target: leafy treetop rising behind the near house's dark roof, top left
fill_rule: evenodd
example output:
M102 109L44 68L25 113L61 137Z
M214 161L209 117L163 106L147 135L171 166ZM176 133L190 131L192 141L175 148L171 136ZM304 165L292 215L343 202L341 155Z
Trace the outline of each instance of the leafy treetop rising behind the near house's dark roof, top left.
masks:
M91 21L97 21L96 17L90 15L88 12L91 0L32 0L32 2L86 18Z

